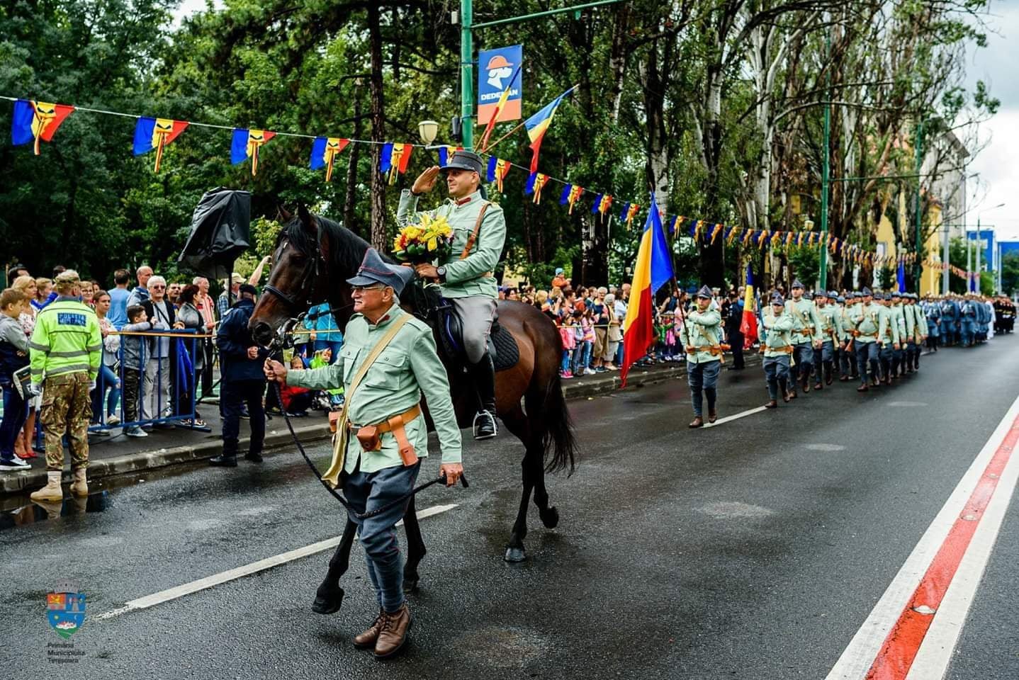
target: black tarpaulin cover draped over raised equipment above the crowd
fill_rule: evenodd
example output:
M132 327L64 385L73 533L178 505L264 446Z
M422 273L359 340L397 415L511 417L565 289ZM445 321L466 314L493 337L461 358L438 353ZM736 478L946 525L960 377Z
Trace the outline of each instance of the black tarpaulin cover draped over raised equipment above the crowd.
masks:
M191 234L177 262L200 276L229 278L233 261L251 245L251 215L250 191L207 191L192 215Z

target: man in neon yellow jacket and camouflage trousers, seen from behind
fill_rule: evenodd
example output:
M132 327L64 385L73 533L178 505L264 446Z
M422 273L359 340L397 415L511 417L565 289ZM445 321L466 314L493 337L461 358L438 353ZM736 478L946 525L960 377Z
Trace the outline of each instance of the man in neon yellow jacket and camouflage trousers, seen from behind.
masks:
M36 317L29 343L32 391L44 392L40 422L46 433L46 486L32 494L33 501L61 501L63 437L70 449L74 496L89 495L89 420L103 357L103 337L96 313L82 302L82 282L68 269L54 281L57 298Z

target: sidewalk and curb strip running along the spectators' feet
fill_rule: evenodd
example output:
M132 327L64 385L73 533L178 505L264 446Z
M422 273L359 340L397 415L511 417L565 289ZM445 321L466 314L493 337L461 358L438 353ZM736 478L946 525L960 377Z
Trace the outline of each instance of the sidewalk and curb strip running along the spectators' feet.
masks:
M760 359L756 353L744 354L748 366L756 365ZM727 356L727 360L732 358ZM648 367L633 367L627 389L638 388L641 385L653 385L666 380L686 378L686 364L658 363ZM620 387L619 372L584 376L562 382L562 393L567 399L580 399L605 394ZM119 428L112 429L110 437L89 437L89 478L102 477L128 472L151 470L171 465L182 465L205 460L218 455L222 451L220 433L222 424L219 420L219 407L215 403L204 403L199 406L202 417L212 428L211 433L194 431L187 428L173 427L166 430L158 428L149 433L145 439L124 437ZM309 411L308 417L291 418L293 430L303 444L317 442L329 438L329 423L321 411ZM240 422L240 450L248 447L249 432L245 420ZM266 422L265 448L292 446L290 433L282 416L270 416ZM65 461L67 457L65 455ZM31 470L0 472L0 496L24 494L46 484L46 460L43 454L29 461ZM64 464L64 478L70 475L70 466Z

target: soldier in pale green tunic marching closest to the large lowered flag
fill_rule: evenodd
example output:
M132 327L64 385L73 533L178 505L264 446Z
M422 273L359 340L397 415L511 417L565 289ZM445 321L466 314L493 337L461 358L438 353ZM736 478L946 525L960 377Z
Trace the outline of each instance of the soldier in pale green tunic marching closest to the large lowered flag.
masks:
M694 406L691 428L704 424L703 397L707 397L707 421L714 422L718 372L721 371L721 314L711 304L711 289L697 291L697 307L684 320L683 333L687 350L687 380Z

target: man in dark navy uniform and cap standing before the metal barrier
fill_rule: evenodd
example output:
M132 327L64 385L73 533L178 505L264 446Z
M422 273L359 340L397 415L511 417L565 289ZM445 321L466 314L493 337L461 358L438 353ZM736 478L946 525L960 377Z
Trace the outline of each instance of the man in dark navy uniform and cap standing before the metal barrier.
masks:
M219 396L223 408L223 453L209 459L210 465L237 466L237 435L240 429L242 404L248 404L251 414L252 442L245 458L262 462L262 444L265 440L265 373L262 364L269 353L252 340L248 322L255 311L255 286L242 284L240 299L229 308L216 335L219 360L223 376Z

